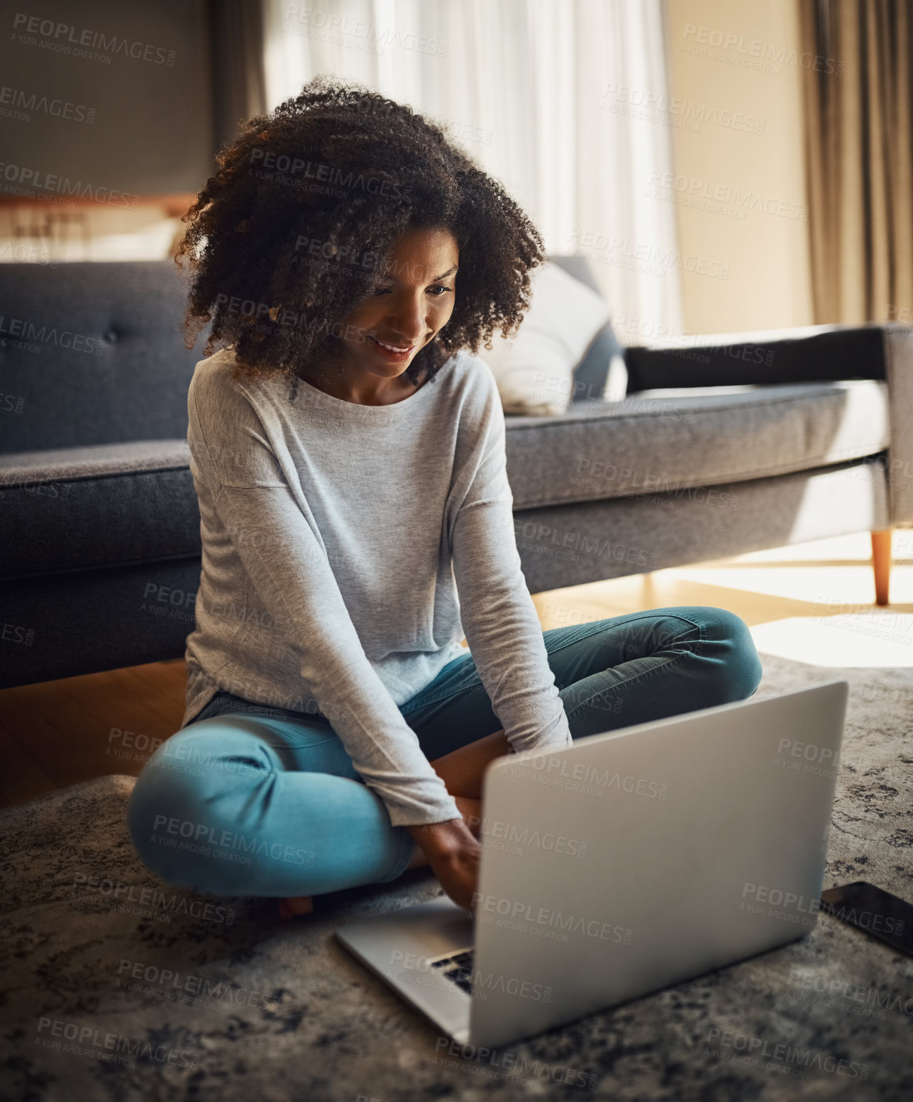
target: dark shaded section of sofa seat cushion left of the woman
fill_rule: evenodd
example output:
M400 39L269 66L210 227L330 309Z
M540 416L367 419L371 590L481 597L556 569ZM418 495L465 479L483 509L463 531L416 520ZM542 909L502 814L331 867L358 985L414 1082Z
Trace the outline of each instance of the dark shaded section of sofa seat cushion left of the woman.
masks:
M186 440L0 455L0 579L198 555Z

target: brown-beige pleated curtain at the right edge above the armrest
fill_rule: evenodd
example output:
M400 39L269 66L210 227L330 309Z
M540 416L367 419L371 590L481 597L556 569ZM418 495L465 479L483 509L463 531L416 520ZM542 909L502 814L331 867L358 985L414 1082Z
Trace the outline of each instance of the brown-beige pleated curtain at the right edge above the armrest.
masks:
M911 0L798 0L818 324L913 322Z

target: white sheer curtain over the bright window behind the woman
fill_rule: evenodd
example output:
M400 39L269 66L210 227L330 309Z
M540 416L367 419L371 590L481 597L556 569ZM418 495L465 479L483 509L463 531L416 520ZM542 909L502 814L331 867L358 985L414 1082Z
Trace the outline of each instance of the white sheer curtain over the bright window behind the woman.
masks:
M612 111L607 91L667 102L660 0L263 6L270 108L318 73L411 105L504 184L547 252L590 261L616 324L682 332L674 260L657 274L632 259L677 255L674 204L643 197L672 172L671 127Z

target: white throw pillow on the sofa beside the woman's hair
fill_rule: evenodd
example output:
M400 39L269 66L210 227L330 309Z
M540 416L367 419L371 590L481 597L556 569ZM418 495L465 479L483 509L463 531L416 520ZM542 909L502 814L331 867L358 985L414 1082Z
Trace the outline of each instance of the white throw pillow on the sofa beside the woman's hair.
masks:
M500 333L479 356L498 381L506 413L564 413L574 393L574 370L609 321L609 304L552 261L530 273L530 307L509 339Z

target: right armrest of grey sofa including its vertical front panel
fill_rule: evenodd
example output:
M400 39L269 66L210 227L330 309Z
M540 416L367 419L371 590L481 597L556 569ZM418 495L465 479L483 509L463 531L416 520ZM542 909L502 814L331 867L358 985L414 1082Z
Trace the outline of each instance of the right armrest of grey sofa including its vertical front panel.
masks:
M624 349L628 392L885 379L891 523L913 521L913 325L816 325L714 334Z

